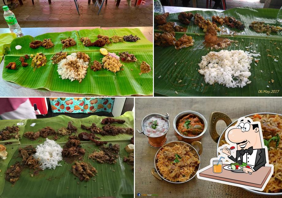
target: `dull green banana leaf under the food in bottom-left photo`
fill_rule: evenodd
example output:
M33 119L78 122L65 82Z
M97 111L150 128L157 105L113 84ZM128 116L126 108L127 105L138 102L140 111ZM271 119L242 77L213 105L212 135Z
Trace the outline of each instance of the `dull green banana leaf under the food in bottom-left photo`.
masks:
M89 132L82 130L80 125L84 124L90 126L93 122L97 126L101 127L101 120L105 117L89 116L87 118L70 118L65 115L59 115L53 118L43 119L27 119L25 123L24 133L27 131L37 131L43 127L51 126L55 130L60 127L67 127L69 121L73 122L73 125L78 128L78 133ZM134 117L133 112L126 112L124 115L116 117L118 119L124 119L124 124L114 123L116 126L133 127ZM10 120L11 124L13 120ZM31 123L36 123L31 127ZM2 126L2 121L0 121ZM131 166L123 162L123 157L128 156L124 147L130 144L130 138L132 135L120 134L117 136L100 136L102 141L108 141L112 144L120 145L119 158L116 159L116 164L100 164L96 161L88 159L88 155L94 150L99 150L93 142L82 141L82 148L86 150L83 157L83 161L90 163L98 171L97 175L91 180L79 181L77 177L70 172L73 163L61 161L62 166L56 167L55 170L46 169L40 171L39 175L31 176L32 172L28 168L25 168L21 173L19 181L12 187L10 182L5 181L5 172L7 167L13 165L16 161L21 161L21 157L18 157L18 147L25 147L32 145L36 147L45 141L45 138L39 138L36 141L31 141L25 137L20 139L20 145L14 143L12 145L6 145L8 158L0 161L0 196L6 197L102 197L102 196L115 196L115 197L132 197L134 193L134 176ZM52 136L48 137L52 139ZM67 142L66 137L61 137L56 142L60 146L64 146ZM1 144L1 142L0 142ZM107 145L108 146L108 145ZM13 149L11 149L13 147ZM1 188L2 187L2 188Z

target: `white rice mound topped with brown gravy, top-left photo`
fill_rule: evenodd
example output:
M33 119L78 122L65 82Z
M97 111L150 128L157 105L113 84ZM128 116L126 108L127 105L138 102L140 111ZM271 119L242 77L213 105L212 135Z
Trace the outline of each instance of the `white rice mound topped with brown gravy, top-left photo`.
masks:
M84 62L76 57L76 53L71 53L58 63L57 72L62 79L70 79L70 81L84 79L89 62Z

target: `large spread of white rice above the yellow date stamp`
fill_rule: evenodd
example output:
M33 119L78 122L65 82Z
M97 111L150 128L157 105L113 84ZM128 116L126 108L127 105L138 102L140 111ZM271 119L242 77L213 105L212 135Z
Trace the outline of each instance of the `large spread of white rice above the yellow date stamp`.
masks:
M252 56L260 54L250 54L243 50L221 50L219 52L209 52L202 56L202 61L198 72L204 75L206 83L219 83L226 87L244 87L251 83L248 79L251 76L249 69L252 63Z

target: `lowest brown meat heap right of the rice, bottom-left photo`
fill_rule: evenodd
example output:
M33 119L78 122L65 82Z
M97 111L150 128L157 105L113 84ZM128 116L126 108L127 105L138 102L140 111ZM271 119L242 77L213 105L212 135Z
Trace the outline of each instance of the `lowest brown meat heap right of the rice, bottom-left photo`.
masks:
M98 171L86 162L74 162L71 172L79 178L80 181L89 181Z

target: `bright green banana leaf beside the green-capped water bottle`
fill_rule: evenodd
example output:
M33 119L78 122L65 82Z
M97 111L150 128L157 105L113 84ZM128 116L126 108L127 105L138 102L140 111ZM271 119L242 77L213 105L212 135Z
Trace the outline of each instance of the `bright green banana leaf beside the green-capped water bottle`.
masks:
M85 52L90 56L90 65L94 60L101 61L103 55L99 52L99 47L85 47L79 40L80 37L89 37L93 42L97 40L98 34L107 35L109 37L113 35L137 35L140 37L140 40L136 42L112 43L105 45L103 48L107 49L109 52L115 52L116 54L118 54L118 52L128 51L129 53L135 54L138 60L134 63L122 62L122 64L124 64L124 70L117 73L112 73L105 69L93 72L89 66L87 74L81 83L59 78L57 64L53 65L50 60L56 52ZM74 38L77 44L63 50L60 40L67 37ZM43 47L38 49L29 48L29 43L31 41L42 41L44 38L51 38L55 46L50 49L45 49ZM16 50L16 45L21 45L22 48ZM18 65L17 69L10 70L4 67L2 78L6 81L17 83L23 87L32 89L45 88L50 91L58 92L109 96L133 94L151 95L153 92L153 72L142 74L141 76L139 73L142 61L146 61L153 69L152 49L152 43L146 39L139 29L84 29L63 33L46 33L37 37L24 36L12 41L10 53L4 57L4 65L7 65L10 62L16 62ZM33 69L30 66L26 68L19 66L21 64L19 61L20 56L24 56L25 54L36 54L38 52L42 52L46 55L48 62L44 67L36 69L36 71L33 72ZM27 60L27 63L29 63L29 65L31 64L31 58Z

